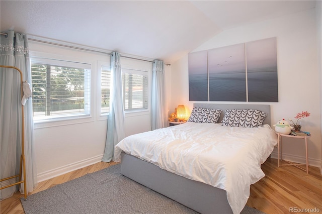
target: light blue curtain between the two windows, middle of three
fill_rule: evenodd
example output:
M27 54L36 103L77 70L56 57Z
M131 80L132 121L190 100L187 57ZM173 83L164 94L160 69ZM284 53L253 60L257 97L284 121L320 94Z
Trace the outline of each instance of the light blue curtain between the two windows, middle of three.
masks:
M107 136L105 152L102 158L104 162L114 161L114 147L124 136L124 108L122 93L122 70L120 53L111 54L111 91L110 108L107 122Z

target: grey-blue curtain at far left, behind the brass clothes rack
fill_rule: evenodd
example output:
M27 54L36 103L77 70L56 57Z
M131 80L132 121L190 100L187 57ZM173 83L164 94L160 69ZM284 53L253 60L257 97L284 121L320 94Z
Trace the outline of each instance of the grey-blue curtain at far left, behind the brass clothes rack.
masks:
M31 84L31 66L27 35L9 31L8 36L1 35L1 65L15 66L23 72L23 80ZM0 72L0 139L1 139L1 178L19 174L22 145L22 113L21 113L21 78L20 73L11 68L2 68ZM26 192L37 185L37 170L34 155L34 137L32 120L32 100L24 105L25 115L25 161ZM1 200L8 198L18 190L17 186L1 190ZM25 192L20 185L21 193Z

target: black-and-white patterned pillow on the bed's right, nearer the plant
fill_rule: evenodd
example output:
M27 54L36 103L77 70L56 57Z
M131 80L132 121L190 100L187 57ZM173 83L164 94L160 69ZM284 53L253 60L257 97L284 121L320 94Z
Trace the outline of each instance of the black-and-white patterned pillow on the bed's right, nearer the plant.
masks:
M263 125L267 114L259 110L244 109L227 109L221 121L222 126L232 127L259 127Z

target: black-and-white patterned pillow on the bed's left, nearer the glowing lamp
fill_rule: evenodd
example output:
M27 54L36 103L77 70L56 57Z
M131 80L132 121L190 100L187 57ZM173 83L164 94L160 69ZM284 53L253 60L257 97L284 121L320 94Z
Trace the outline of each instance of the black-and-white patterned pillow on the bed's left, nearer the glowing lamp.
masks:
M188 122L194 123L217 123L221 110L204 109L200 107L194 107Z

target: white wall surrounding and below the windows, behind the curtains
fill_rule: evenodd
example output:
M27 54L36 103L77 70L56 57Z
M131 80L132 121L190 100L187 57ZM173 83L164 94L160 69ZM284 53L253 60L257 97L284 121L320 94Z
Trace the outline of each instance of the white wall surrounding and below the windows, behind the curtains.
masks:
M29 48L31 56L33 53L45 52L62 59L72 57L76 61L92 64L91 118L76 120L67 125L58 123L47 124L44 127L35 124L35 155L38 182L40 182L101 161L105 149L107 116L100 117L97 110L98 99L100 99L100 95L98 95L98 85L100 85L98 64L99 62L109 64L110 55L79 51L31 40L29 40ZM143 67L150 66L150 70L152 70L152 63L124 58L122 55L122 66L126 67L134 63ZM169 69L170 67L166 66L166 74L170 73ZM149 131L151 129L150 120L150 111L126 113L125 135Z

